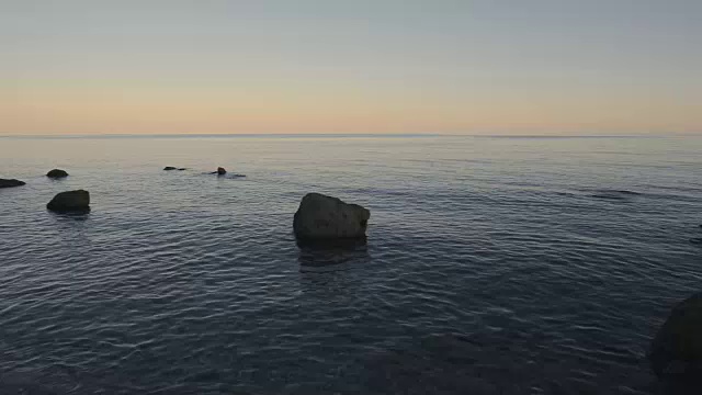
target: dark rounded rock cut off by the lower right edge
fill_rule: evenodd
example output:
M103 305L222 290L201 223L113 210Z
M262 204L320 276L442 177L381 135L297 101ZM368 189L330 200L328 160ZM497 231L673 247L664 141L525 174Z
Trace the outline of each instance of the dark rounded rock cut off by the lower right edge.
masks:
M660 379L702 384L702 293L673 307L650 343L648 360Z

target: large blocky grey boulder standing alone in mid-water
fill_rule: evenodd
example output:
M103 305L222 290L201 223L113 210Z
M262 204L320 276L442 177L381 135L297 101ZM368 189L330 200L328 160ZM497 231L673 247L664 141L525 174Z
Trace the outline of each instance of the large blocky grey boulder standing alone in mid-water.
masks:
M295 213L293 229L298 241L365 239L371 212L337 198L308 193Z

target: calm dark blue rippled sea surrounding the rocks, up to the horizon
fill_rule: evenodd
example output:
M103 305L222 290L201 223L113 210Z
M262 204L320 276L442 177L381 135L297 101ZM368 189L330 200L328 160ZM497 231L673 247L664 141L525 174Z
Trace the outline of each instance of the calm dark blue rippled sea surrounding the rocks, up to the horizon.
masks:
M702 137L0 151L27 182L0 190L3 394L650 394L649 339L702 287ZM45 210L79 188L90 214ZM296 247L312 191L371 210L365 249Z

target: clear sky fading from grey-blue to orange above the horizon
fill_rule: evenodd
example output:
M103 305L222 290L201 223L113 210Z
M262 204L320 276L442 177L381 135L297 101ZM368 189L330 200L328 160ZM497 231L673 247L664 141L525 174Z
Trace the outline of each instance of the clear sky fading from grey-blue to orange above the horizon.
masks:
M0 0L0 135L702 133L699 0Z

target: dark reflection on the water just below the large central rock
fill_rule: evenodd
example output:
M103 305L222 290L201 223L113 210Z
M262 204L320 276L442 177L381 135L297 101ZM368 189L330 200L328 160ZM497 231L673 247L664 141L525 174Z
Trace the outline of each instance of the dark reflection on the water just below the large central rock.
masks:
M297 240L299 270L302 272L330 272L346 270L349 264L366 262L366 238L313 242Z

